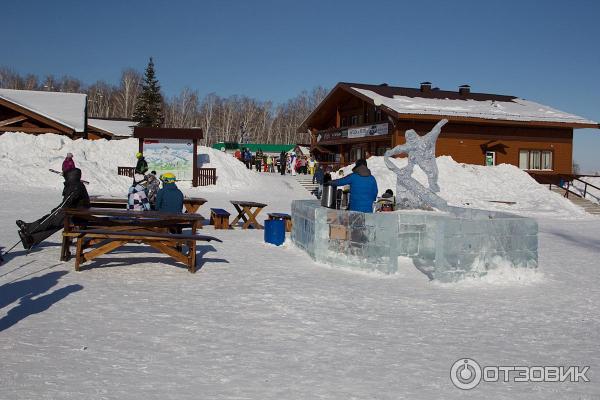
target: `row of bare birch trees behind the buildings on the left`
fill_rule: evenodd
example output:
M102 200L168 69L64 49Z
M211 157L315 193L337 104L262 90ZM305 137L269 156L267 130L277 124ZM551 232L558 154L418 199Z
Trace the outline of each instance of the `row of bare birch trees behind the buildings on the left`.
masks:
M157 76L160 82L160 75ZM0 67L0 88L44 90L88 95L88 118L132 119L141 93L143 74L132 68L123 70L118 84L97 81L86 85L77 78L52 75L40 79L33 74L21 75ZM259 101L246 96L221 97L216 93L201 96L185 88L178 95L163 95L164 127L201 127L204 145L221 141L239 141L242 126L245 138L252 143L310 143L308 133L296 129L327 95L318 86L303 91L282 104Z

